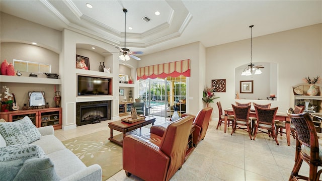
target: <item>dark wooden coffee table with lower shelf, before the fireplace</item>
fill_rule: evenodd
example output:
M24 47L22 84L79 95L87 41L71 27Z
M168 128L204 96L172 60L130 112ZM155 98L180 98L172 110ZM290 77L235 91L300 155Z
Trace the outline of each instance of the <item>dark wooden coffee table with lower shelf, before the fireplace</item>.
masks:
M140 134L141 134L141 128L143 126L146 126L148 124L154 125L154 122L155 122L155 118L149 117L149 116L147 116L145 120L138 121L135 123L127 123L121 120L110 122L109 128L111 129L111 137L109 138L109 140L123 146L123 138L126 136L128 132L140 128ZM120 134L113 137L113 130L120 131L123 133L123 135Z

